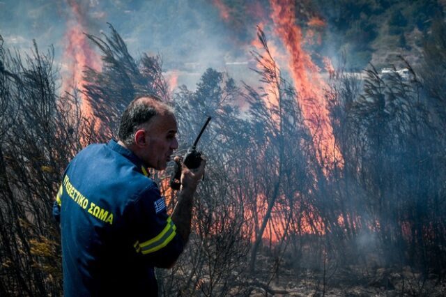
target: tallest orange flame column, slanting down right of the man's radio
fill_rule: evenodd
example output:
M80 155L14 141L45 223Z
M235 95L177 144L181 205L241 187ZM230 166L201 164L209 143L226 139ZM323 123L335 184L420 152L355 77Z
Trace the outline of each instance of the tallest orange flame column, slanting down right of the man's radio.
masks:
M295 24L295 5L291 0L270 0L271 18L275 23L275 33L281 38L290 55L289 68L298 91L298 100L308 128L314 137L318 160L323 165L342 163L342 155L334 145L334 135L330 125L325 89L319 68L311 56L302 49L302 31ZM320 22L313 21L320 24ZM324 160L328 160L328 164Z

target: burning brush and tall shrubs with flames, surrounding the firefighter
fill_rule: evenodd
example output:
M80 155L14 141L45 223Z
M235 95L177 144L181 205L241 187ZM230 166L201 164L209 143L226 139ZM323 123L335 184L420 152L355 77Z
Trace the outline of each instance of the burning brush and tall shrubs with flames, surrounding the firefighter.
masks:
M324 80L301 47L291 1L270 3L290 82L261 29L258 86L209 68L195 90L173 94L160 57L134 59L112 26L81 34L102 64L84 61L73 77L82 86L61 95L52 49L34 43L22 59L0 38L1 296L61 295L51 211L62 171L84 144L114 137L123 108L145 93L174 105L179 155L213 117L199 145L208 167L194 231L176 266L157 270L162 296L445 294L444 21L433 22L419 67L401 57L408 78L374 66L352 75L324 59ZM170 173L153 178L171 209Z

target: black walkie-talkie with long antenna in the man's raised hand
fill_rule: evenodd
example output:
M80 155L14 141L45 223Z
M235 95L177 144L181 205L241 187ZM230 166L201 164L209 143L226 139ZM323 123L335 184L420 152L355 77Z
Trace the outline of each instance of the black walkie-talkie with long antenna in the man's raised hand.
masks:
M186 165L189 169L196 169L200 167L201 164L201 151L197 151L197 144L200 140L201 135L203 134L204 130L206 129L211 117L209 116L206 123L204 123L203 128L201 128L201 131L195 139L194 144L192 147L187 149L187 153L185 153L183 157L183 163ZM174 172L172 173L170 177L170 188L174 190L180 190L181 185L181 160L177 160L174 162Z

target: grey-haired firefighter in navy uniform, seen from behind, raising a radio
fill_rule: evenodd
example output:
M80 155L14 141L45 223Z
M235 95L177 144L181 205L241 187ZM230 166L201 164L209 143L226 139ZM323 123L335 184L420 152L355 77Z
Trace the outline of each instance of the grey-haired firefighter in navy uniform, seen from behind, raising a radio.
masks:
M148 168L167 167L176 132L169 106L137 98L123 113L118 141L92 144L72 159L53 209L65 296L157 296L154 267L170 268L183 251L206 165L183 166L178 203L167 215Z

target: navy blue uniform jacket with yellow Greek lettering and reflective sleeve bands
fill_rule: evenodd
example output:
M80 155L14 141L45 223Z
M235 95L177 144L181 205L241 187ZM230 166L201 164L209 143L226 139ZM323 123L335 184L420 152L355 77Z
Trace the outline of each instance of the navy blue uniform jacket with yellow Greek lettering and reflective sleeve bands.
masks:
M65 296L156 296L153 267L183 251L157 185L114 140L73 158L53 213L61 224Z

